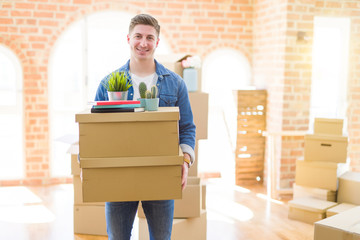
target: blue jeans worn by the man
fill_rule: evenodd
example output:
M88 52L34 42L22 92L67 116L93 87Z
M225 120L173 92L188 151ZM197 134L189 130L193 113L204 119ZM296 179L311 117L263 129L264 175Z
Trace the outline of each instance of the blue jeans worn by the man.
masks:
M106 228L109 240L129 240L139 202L107 202ZM142 201L150 240L170 240L174 200Z

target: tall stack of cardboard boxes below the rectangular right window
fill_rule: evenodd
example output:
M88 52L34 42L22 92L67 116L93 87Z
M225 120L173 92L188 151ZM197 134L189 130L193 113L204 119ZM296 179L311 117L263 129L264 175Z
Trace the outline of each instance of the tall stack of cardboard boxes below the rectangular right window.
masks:
M337 205L338 178L347 170L343 120L316 118L314 134L305 136L305 158L296 162L294 200L289 218L314 223Z

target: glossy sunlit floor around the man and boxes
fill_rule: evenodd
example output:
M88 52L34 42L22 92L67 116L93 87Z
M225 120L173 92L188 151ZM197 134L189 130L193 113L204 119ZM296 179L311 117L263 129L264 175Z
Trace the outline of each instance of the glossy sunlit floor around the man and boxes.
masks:
M207 182L208 240L313 239L313 226L289 220L287 211L286 202L267 199L262 187ZM0 229L4 240L106 239L73 234L71 184L0 188Z

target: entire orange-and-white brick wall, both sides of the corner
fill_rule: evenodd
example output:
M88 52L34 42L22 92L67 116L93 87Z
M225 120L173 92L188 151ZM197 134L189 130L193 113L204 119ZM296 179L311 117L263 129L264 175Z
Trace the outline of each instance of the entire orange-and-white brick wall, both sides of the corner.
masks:
M54 43L69 24L98 11L147 12L160 21L174 53L205 58L230 47L252 63L253 82L268 90L268 130L306 130L309 123L311 48L314 16L350 16L349 156L360 170L360 2L346 0L3 0L0 44L23 68L26 178L0 185L68 182L51 178L48 63ZM308 42L297 41L304 31ZM294 180L303 139L276 139L280 187Z

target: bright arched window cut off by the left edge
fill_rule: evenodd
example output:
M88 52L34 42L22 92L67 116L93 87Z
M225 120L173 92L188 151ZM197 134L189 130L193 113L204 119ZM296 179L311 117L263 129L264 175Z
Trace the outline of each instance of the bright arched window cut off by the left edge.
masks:
M0 179L24 177L22 68L16 55L0 45Z

